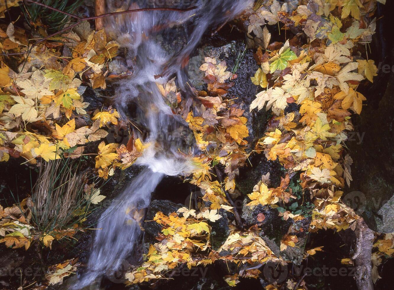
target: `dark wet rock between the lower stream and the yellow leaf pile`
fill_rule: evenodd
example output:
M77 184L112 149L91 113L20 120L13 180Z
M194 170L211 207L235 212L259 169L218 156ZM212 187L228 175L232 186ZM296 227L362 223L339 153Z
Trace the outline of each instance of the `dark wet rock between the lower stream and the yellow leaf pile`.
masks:
M162 212L166 216L171 214L172 212L177 212L179 208L184 206L183 204L173 203L167 200L153 200L147 212L147 217L145 218L145 222L143 223L143 228L147 234L151 236L158 236L158 233L162 231L162 226L153 221L156 212Z

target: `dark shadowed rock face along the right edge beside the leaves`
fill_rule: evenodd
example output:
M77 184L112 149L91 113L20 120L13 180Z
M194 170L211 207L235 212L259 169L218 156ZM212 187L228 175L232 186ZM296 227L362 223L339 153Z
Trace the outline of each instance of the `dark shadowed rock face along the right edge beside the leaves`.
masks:
M384 17L371 43L378 75L373 83L364 82L358 88L366 102L361 115L352 117L355 130L346 143L354 161L348 203L361 210L368 227L377 232L394 232L393 3L388 5L377 9L376 17Z

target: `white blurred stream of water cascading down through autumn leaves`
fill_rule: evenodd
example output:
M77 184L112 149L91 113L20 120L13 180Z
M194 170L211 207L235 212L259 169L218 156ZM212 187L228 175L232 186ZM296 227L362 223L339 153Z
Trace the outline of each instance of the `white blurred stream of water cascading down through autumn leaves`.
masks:
M107 1L108 7L111 7L110 2L113 1ZM128 0L122 8L163 7L152 5L152 2L155 1ZM169 6L173 8L191 7L190 4L182 5L182 0L168 2L177 3ZM130 212L149 207L151 193L165 175L188 174L193 170L190 158L193 148L190 149L179 134L187 128L187 124L165 104L156 83L165 84L176 75L179 87L185 95L190 96L187 73L182 63L209 27L218 28L233 19L251 5L251 0L188 0L185 3L190 2L196 8L187 12L144 11L106 20L108 34L116 37L126 47L128 55L135 58L132 76L117 86L115 106L121 117L126 119L129 117L130 104L134 105L133 119L145 128L145 132L138 132L139 138L150 145L137 161L145 169L130 181L100 217L97 224L100 230L95 232L86 269L74 289L83 288L98 277L115 272L133 252L141 237L139 223ZM163 39L171 41L176 28L184 30L186 42L182 47L172 47L173 52L168 52L161 43ZM184 102L184 106L190 105L191 102ZM180 152L189 152L190 157Z

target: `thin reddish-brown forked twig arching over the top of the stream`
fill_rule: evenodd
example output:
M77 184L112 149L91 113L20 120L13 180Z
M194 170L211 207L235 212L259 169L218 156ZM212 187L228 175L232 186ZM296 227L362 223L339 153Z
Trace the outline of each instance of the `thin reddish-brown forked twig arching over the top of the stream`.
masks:
M186 8L186 9L178 9L178 8L162 8L162 7L154 7L154 8L140 8L140 9L130 9L130 10L125 10L125 11L118 11L118 12L112 12L112 13L105 13L102 15L97 15L97 16L92 16L92 17L79 17L78 15L74 15L71 13L67 13L67 12L63 12L59 9L47 6L45 4L33 1L33 0L24 0L27 3L31 3L31 4L36 4L39 6L43 6L45 8L51 9L53 11L56 12L60 12L63 13L65 15L68 15L70 17L73 17L75 19L77 19L78 21L74 24L71 24L70 26L67 26L66 28L63 28L62 30L59 30L58 32L52 33L51 35L48 35L42 39L39 39L38 41L36 41L35 43L33 43L33 45L30 47L29 50L24 51L24 52L15 52L15 53L1 53L1 55L8 55L8 56L12 56L12 55L20 55L20 54L25 54L25 53L30 53L33 49L33 47L35 47L36 45L38 45L39 43L46 41L47 39L50 39L51 37L54 37L60 33L63 33L71 28L74 28L75 26L78 26L82 21L87 21L87 20L96 20L96 19L100 19L100 18L104 18L104 17L109 17L109 16L116 16L116 15L121 15L121 14L126 14L126 13L134 13L134 12L142 12L142 11L177 11L177 12L186 12L186 11L190 11L195 9L196 7L190 7L190 8Z

